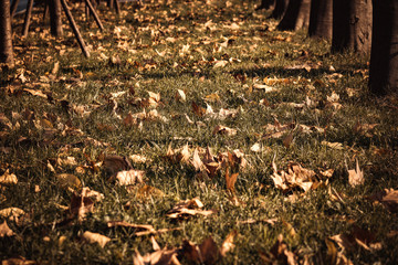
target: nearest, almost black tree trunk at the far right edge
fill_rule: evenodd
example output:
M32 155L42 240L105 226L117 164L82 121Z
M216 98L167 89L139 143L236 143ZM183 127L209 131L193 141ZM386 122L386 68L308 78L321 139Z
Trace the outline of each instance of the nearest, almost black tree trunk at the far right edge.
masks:
M398 93L398 1L373 1L369 88L377 95Z

